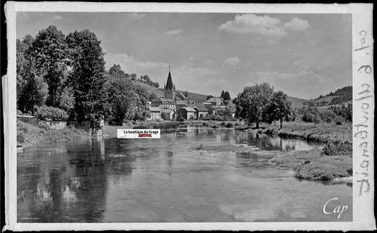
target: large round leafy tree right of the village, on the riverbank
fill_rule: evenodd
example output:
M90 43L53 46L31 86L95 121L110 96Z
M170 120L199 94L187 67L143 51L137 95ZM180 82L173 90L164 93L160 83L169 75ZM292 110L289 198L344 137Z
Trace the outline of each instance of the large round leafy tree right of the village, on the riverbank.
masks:
M236 117L244 118L249 124L255 123L259 128L259 123L265 122L265 110L269 106L269 99L274 88L267 83L255 84L255 86L245 86L242 93L238 93L233 100L236 104Z

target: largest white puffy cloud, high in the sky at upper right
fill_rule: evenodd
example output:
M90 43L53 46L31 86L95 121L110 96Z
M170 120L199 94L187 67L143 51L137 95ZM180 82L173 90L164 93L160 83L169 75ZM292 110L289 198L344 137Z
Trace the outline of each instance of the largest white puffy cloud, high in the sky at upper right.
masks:
M233 21L228 21L219 26L220 31L228 33L255 33L273 37L287 35L286 28L291 30L306 30L309 27L308 21L301 18L293 18L283 23L278 18L271 16L257 16L253 13L236 15Z

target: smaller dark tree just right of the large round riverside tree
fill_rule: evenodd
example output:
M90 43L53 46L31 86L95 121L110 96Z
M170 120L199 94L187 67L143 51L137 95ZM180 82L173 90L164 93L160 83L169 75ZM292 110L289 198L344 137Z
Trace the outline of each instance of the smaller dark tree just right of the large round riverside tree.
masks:
M283 120L288 122L291 119L291 108L291 101L288 100L286 93L283 91L274 92L267 108L268 122L272 123L274 120L279 120L280 128L282 129Z

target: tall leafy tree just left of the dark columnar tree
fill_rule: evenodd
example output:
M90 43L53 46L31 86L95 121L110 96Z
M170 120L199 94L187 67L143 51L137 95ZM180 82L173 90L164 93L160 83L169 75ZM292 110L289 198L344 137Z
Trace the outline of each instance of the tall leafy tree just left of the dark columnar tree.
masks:
M48 84L49 98L47 104L56 107L57 90L61 86L62 76L66 70L67 47L65 35L57 30L55 25L50 25L40 32L33 40L30 47L35 57L36 75L43 77Z

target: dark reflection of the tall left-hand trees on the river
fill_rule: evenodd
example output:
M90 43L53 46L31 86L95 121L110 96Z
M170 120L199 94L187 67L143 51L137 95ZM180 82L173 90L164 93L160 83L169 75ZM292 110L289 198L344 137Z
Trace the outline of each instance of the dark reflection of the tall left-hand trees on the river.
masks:
M105 211L108 174L132 173L134 157L127 155L127 143L91 140L64 146L64 151L26 152L33 164L18 163L19 221L98 222ZM124 157L111 157L115 153Z

